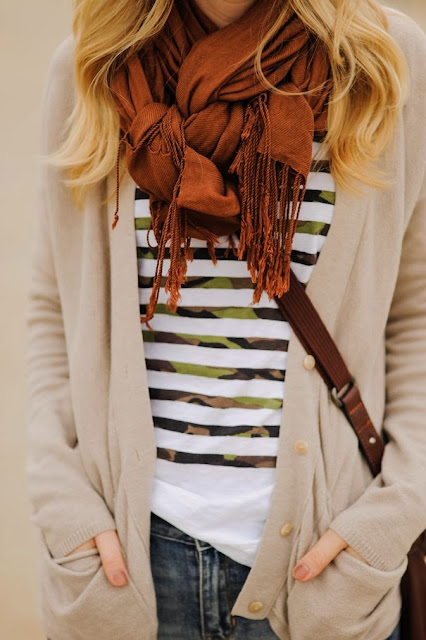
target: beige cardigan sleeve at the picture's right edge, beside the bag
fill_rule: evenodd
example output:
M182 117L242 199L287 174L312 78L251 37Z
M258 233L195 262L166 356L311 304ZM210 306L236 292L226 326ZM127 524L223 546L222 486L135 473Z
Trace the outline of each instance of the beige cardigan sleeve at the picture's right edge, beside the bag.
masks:
M384 570L426 529L426 176L404 236L385 343L382 471L330 524Z

